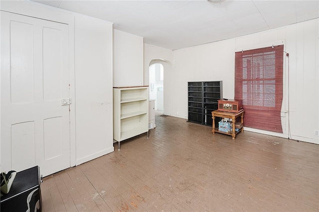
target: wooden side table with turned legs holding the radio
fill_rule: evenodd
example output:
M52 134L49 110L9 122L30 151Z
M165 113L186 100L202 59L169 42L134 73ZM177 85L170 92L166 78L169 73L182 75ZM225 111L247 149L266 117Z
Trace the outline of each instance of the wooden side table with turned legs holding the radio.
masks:
M213 119L213 128L212 128L212 132L213 134L215 134L215 132L219 132L219 133L223 133L226 135L231 135L232 139L235 140L236 138L236 134L238 134L239 132L244 132L244 110L241 110L239 112L224 112L224 111L218 111L218 110L214 110L211 112L212 115L212 119ZM235 122L236 122L236 118L237 117L241 117L241 123L242 123L242 127L241 129L238 130L238 132L236 132L235 130ZM231 118L232 119L232 125L233 125L233 130L231 132L222 132L218 130L218 127L215 128L215 117L221 117L221 118Z

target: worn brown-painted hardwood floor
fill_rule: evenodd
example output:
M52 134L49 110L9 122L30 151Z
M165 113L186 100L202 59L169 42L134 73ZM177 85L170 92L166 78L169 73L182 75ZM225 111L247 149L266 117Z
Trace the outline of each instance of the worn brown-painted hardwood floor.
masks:
M88 141L89 142L89 141ZM157 116L115 151L43 179L45 212L319 211L319 145Z

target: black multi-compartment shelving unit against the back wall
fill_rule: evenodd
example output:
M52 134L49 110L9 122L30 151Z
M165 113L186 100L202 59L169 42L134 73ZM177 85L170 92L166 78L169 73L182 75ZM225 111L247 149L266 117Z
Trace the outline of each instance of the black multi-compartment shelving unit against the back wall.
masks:
M222 81L188 82L188 121L212 125L211 111L222 99ZM219 118L215 119L218 124Z

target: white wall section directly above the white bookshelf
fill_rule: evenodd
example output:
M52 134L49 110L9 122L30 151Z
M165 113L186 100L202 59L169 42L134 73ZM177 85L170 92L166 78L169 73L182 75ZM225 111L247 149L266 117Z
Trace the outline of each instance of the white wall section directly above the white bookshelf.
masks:
M114 29L113 86L143 84L143 37Z

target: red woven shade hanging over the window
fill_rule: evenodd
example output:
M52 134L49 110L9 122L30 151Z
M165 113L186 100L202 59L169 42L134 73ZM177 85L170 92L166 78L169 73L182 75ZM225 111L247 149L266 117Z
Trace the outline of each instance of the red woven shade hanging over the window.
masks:
M284 45L235 53L235 100L242 100L244 125L283 132Z

